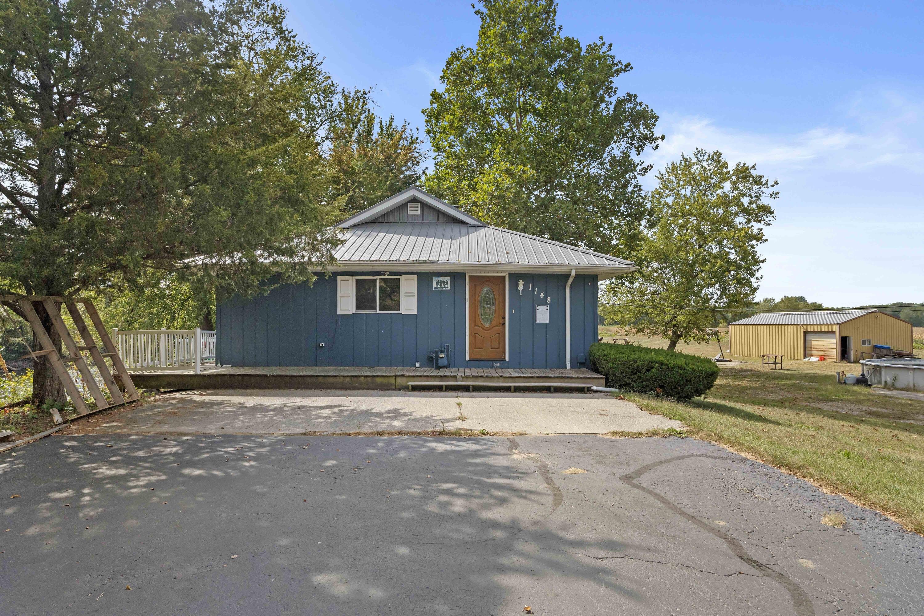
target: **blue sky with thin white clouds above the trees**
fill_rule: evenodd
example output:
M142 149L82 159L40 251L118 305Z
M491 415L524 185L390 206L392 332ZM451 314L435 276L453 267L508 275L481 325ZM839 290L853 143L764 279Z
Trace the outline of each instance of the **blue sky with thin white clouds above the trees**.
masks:
M379 113L420 127L468 2L287 3L291 26ZM656 168L696 147L780 180L760 297L924 301L924 3L561 2L661 116ZM653 179L653 175L649 178Z

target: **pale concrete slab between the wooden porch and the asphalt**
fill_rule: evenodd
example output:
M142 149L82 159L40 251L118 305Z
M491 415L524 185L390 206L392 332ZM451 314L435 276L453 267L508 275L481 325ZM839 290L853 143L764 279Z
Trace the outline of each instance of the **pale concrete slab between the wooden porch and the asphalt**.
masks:
M343 390L214 390L169 393L76 430L133 434L486 429L524 434L598 434L681 428L604 393L436 393Z

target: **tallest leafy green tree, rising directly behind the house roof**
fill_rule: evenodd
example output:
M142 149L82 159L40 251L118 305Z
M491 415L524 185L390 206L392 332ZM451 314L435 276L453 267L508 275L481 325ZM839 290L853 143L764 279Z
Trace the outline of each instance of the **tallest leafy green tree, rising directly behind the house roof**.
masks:
M657 115L615 80L631 69L602 39L561 34L550 0L484 0L475 48L446 61L423 110L426 187L486 222L628 255L645 210L638 160Z

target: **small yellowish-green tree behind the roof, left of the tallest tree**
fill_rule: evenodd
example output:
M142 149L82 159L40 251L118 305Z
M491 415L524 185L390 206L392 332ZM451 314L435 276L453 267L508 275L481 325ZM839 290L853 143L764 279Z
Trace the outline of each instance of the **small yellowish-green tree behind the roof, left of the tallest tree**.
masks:
M328 129L328 180L344 213L354 214L418 184L424 150L416 129L371 108L369 92L344 92Z

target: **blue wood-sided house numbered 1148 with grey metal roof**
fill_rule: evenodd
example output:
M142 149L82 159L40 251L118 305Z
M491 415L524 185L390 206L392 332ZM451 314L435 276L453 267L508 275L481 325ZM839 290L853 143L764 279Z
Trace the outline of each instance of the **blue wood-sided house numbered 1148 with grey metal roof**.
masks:
M410 187L337 225L314 284L218 305L223 366L588 368L602 280L636 266Z

